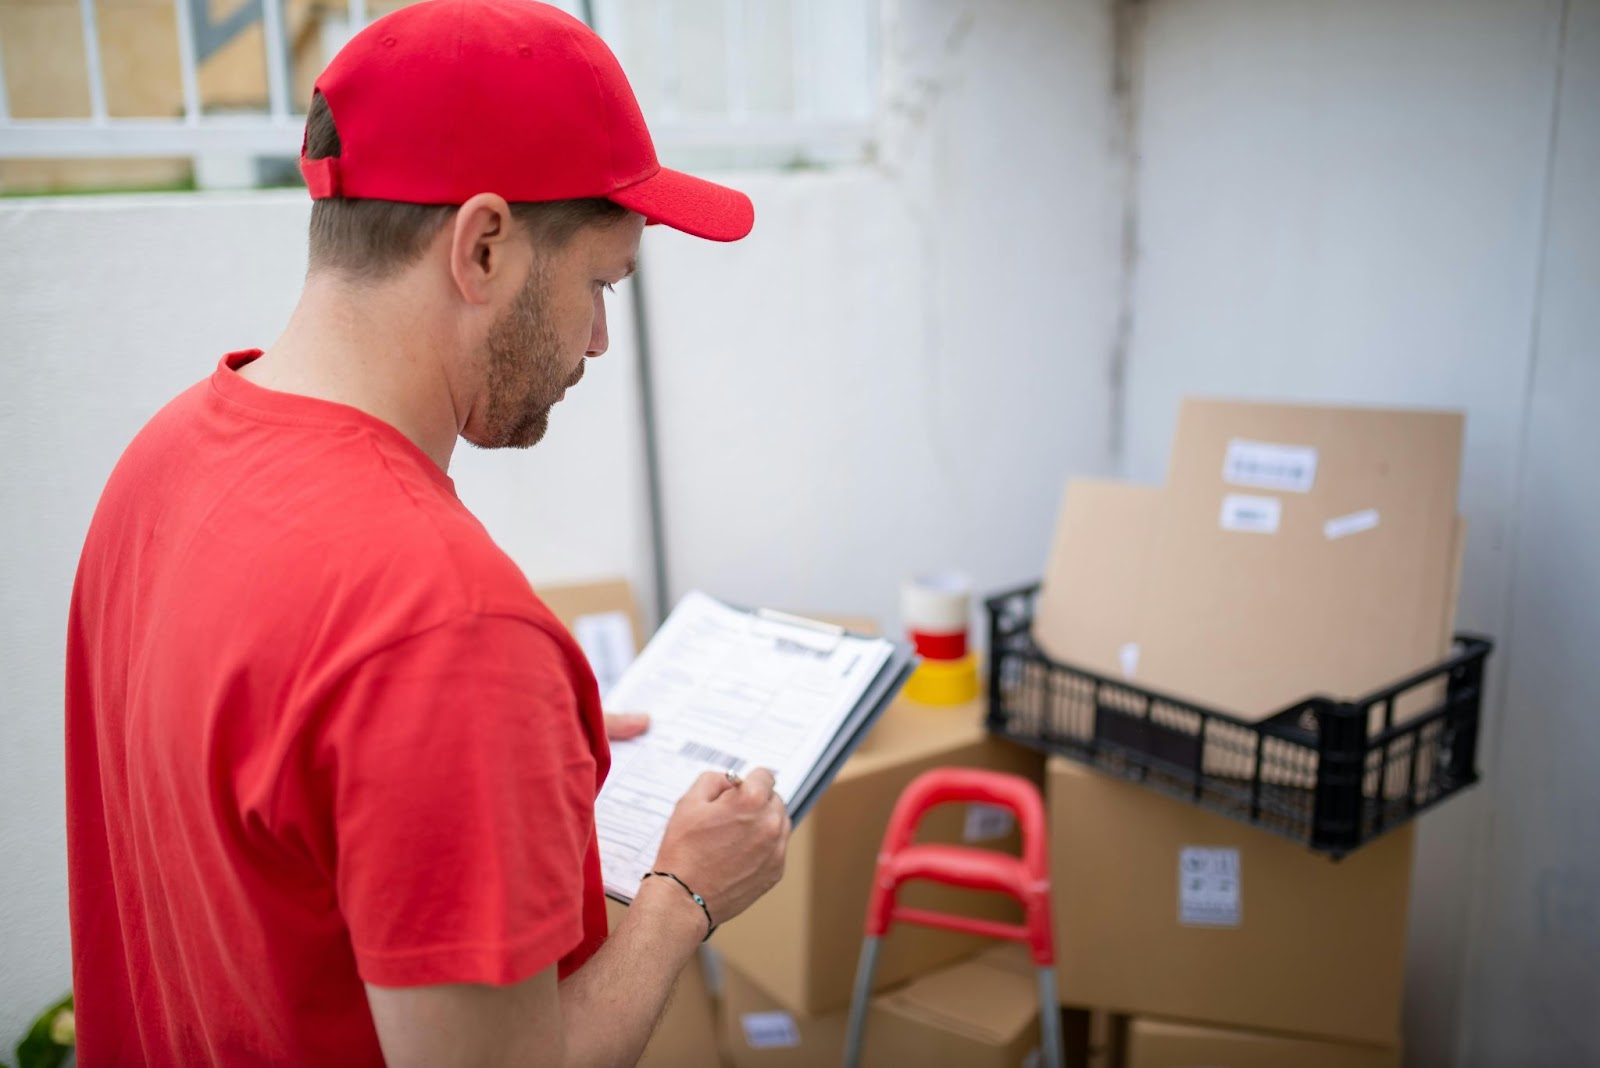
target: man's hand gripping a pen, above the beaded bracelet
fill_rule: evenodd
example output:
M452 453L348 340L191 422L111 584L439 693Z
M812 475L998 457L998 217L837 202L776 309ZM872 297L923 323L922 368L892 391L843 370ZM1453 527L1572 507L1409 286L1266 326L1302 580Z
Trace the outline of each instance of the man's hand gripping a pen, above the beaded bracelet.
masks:
M712 918L726 923L782 878L789 830L770 771L757 769L739 785L706 772L678 801L656 868L694 887Z

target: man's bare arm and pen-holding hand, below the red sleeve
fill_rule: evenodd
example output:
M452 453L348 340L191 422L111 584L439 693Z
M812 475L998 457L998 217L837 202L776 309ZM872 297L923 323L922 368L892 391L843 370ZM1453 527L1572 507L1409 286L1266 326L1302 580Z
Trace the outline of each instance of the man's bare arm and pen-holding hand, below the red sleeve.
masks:
M734 787L707 774L678 803L656 855L731 919L782 875L789 817L773 779ZM565 983L555 969L509 986L366 986L392 1068L632 1065L672 985L706 937L706 915L669 879L645 879L627 916Z

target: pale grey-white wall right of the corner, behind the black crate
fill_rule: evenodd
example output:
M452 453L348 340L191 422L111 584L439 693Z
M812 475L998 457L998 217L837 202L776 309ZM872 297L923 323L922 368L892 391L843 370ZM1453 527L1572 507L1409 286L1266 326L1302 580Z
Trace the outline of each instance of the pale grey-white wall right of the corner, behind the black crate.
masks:
M1459 622L1501 649L1486 782L1421 820L1414 1065L1600 1055L1595 676L1563 644L1600 620L1595 6L1549 203L1560 3L1149 10L1125 473L1162 478L1186 393L1467 412Z

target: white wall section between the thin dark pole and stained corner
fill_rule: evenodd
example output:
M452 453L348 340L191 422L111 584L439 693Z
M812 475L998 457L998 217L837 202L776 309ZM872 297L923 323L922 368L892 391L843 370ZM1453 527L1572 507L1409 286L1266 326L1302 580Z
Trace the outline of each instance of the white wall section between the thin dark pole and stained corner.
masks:
M755 233L645 280L672 587L862 612L1034 580L1106 473L1117 201L1090 0L885 5L875 168L750 177Z

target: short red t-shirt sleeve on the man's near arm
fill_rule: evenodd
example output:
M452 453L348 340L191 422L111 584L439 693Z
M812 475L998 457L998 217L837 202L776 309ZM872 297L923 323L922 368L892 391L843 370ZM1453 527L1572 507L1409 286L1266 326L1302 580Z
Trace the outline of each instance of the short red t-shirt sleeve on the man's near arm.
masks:
M365 982L514 983L579 945L595 763L550 636L514 617L435 627L354 668L325 723Z

